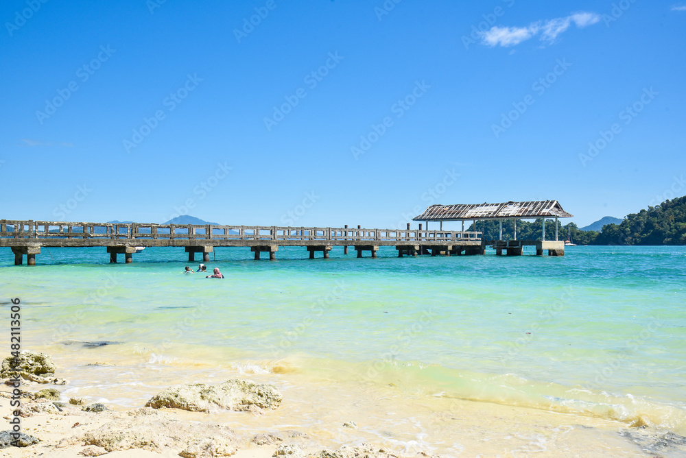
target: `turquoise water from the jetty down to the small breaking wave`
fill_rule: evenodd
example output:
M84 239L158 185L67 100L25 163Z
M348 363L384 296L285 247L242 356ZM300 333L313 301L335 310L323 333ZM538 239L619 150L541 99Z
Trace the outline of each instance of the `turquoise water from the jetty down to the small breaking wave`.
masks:
M182 274L182 248L146 248L131 265L108 264L104 248L43 248L34 267L4 249L0 287L3 308L21 298L24 348L114 341L104 348L122 358L288 365L686 433L686 248L396 253L309 261L281 248L256 262L219 248L215 280Z

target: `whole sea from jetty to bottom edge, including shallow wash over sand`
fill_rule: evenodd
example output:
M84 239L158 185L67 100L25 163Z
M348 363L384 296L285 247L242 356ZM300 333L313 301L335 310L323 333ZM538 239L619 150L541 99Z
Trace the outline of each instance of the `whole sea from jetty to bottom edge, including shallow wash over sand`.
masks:
M187 415L408 456L686 456L686 247L524 254L215 248L215 279L184 274L182 248L42 248L35 266L5 248L0 327L19 298L22 348L51 355L62 396L115 410L246 378L279 410Z

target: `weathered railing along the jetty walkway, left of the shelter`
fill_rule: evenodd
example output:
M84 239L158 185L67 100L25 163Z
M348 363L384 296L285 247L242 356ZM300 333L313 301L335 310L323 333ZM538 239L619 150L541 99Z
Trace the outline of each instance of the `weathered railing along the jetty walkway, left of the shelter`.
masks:
M201 241L456 242L481 240L482 232L419 229L217 226L213 224L73 223L0 220L0 237L22 239L167 239Z

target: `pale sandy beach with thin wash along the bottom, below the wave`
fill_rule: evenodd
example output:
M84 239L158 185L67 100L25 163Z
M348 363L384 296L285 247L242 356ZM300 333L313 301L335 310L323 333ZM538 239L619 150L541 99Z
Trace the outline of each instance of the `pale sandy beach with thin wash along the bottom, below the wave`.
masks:
M27 448L6 448L3 453L10 457L81 457L107 453L108 457L235 454L239 458L262 458L280 454L296 458L327 457L331 455L321 455L322 450L330 453L347 446L362 448L356 452L345 448L333 456L347 458L362 453L372 457L521 457L533 454L678 457L686 450L685 444L679 442L683 438L665 436L666 431L640 429L584 415L447 399L439 395L400 396L392 386L365 387L359 383L333 381L307 383L297 375L244 374L241 379L274 383L283 394L279 407L194 412L165 407L141 409L141 403L134 409L109 405L106 407L112 410L86 412L82 405L71 405L69 396L62 395L69 391L69 385L31 383L24 387L27 394L22 398L22 412L26 415L21 419L22 432L40 442ZM57 406L61 410L54 400L33 399L32 394L46 388L60 391ZM0 393L0 415L10 419L11 387L3 387ZM82 402L93 404L93 396L88 398L91 399ZM131 425L136 422L145 422L147 433L137 427L132 430ZM165 431L171 431L169 422L190 429L211 425L228 428L235 435L235 450L184 454L187 445L201 437L176 437L173 445L165 445L165 441L171 440L165 438ZM115 430L119 433L118 439L110 444L110 451L94 446L93 437L102 440L98 434L108 431L112 425L116 425ZM142 436L136 436L137 433ZM134 436L140 443L131 444L134 439L130 437ZM674 439L670 440L670 437ZM256 439L264 443L258 445ZM117 450L120 447L124 449Z

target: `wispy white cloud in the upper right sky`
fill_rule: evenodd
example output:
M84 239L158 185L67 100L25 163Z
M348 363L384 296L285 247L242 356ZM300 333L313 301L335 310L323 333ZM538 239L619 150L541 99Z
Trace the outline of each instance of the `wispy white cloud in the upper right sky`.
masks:
M482 44L490 47L495 46L514 46L536 36L541 32L541 41L548 43L554 40L561 33L565 32L574 23L576 27L587 27L600 21L600 15L589 12L578 12L563 18L550 19L531 23L526 27L491 27L490 30L482 32Z

